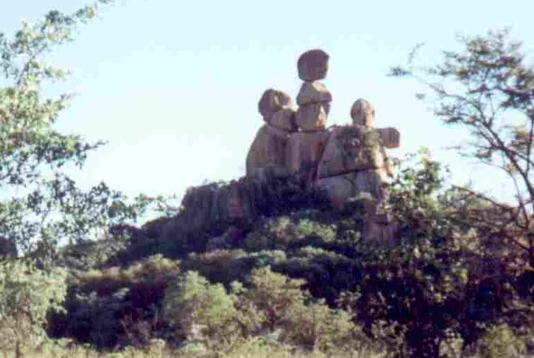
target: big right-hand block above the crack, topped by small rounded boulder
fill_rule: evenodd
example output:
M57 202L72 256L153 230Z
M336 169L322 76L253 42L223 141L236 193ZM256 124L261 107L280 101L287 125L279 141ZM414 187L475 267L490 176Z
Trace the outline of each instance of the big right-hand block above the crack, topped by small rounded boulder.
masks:
M317 169L318 178L352 171L382 168L385 151L380 134L362 125L336 126L328 139Z

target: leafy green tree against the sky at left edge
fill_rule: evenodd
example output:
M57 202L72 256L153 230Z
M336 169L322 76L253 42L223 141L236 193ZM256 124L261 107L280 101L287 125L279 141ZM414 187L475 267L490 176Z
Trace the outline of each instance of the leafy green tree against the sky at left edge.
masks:
M103 142L54 129L73 96L47 95L47 86L67 74L44 56L73 40L98 6L110 1L72 14L52 10L35 24L23 22L13 38L0 33L0 238L19 254L31 251L49 260L59 243L98 238L114 224L135 221L151 203L168 209L161 198L131 200L104 182L84 191L64 170L67 164L82 168Z

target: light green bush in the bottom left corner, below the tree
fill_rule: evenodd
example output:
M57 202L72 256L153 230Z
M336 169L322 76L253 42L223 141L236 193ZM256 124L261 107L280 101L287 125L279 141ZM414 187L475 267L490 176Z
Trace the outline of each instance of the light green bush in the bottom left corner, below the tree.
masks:
M21 260L0 261L0 350L45 338L47 313L60 309L65 279L64 270L45 272Z

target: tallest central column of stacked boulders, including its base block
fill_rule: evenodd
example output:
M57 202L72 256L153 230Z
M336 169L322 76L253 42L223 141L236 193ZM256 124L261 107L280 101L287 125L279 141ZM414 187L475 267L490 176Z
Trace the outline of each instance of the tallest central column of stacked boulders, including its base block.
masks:
M295 121L299 132L293 133L286 151L286 166L292 176L306 185L316 179L316 169L325 149L329 132L325 130L332 95L321 79L328 71L329 56L320 49L304 52L297 61L299 78L304 81L297 104Z

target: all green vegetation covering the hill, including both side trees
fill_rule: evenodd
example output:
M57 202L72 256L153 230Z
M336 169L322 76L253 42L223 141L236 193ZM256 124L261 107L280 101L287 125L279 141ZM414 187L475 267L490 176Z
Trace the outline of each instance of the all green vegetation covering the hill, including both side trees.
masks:
M534 350L534 71L507 33L463 38L443 64L394 68L467 127L468 154L500 166L517 205L447 187L429 154L386 188L391 242L361 238L365 199L343 210L292 180L267 185L254 222L165 235L177 210L64 166L101 143L54 130L69 99L42 61L100 1L0 33L0 351L15 357L519 357ZM413 60L413 59L412 59ZM449 86L452 83L454 86ZM454 91L450 92L449 88ZM425 98L427 99L427 98ZM508 114L520 120L510 123ZM498 161L498 162L497 162ZM216 186L226 185L224 183ZM279 200L283 197L284 200ZM138 228L154 205L167 213Z

